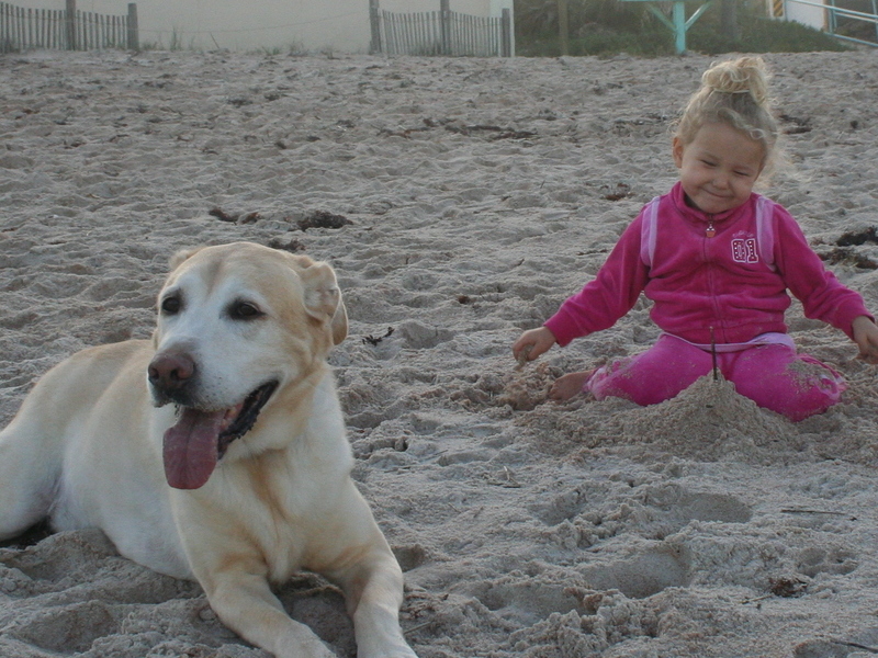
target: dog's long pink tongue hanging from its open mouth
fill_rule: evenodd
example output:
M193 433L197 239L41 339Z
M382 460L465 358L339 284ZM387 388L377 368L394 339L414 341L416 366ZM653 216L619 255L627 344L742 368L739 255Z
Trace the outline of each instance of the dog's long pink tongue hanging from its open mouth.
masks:
M210 479L217 461L217 436L225 411L184 409L165 432L165 477L175 489L198 489Z

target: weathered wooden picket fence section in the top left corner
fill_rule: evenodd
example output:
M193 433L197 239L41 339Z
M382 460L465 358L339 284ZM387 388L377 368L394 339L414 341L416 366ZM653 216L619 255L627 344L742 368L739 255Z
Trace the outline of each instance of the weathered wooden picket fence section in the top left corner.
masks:
M76 0L58 10L0 2L0 53L29 48L138 50L137 5L130 3L126 15L105 15L78 11Z

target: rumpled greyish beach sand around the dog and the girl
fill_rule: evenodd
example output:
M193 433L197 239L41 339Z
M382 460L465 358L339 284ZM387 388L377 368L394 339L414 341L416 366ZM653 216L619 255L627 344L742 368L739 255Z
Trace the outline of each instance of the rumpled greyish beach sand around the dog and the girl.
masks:
M767 191L878 309L878 53L766 60L791 164ZM710 61L3 56L0 422L65 356L148 337L178 248L301 249L344 290L353 475L419 656L878 653L878 371L841 331L788 314L851 385L799 424L710 378L651 408L547 402L656 338L645 302L511 356L675 182L668 126ZM0 548L4 657L267 656L98 531L24 544ZM353 656L337 590L280 595Z

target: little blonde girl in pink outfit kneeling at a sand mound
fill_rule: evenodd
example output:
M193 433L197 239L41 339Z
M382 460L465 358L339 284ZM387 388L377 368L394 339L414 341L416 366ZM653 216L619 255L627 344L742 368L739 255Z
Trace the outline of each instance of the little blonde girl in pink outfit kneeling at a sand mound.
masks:
M645 352L571 373L550 397L579 390L653 405L717 366L739 394L793 421L838 401L845 384L828 365L798 354L787 333L787 291L809 318L841 329L878 363L878 327L863 298L823 268L796 220L753 193L770 167L778 125L762 59L720 63L702 77L672 143L679 182L649 203L622 234L594 281L543 327L525 331L516 359L611 327L641 292L663 330Z

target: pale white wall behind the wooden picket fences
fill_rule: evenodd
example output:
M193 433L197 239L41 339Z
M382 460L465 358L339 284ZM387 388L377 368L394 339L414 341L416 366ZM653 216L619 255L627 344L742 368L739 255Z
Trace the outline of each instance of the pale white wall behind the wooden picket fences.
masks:
M64 9L65 0L11 0ZM439 0L380 0L395 12L438 11ZM290 47L367 53L369 0L136 0L140 46L235 50ZM513 0L450 0L452 11L500 15ZM127 14L126 0L77 0L80 11Z

